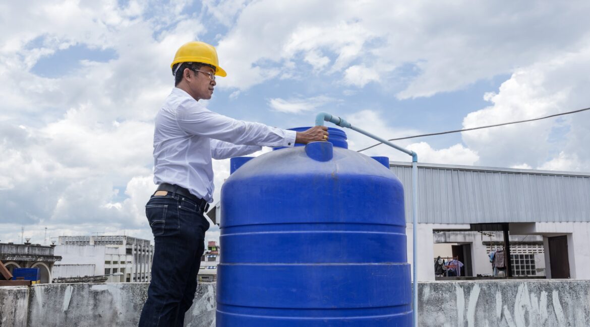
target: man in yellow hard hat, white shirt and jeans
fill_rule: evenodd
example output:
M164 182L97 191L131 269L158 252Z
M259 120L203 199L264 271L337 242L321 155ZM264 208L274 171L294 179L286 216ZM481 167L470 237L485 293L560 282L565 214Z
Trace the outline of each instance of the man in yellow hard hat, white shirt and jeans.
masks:
M204 42L188 42L171 65L175 88L155 119L154 182L158 189L146 205L155 252L148 299L140 326L183 326L191 307L205 250L204 217L212 202L211 159L248 155L261 146L293 146L326 141L327 128L286 131L237 121L199 104L211 99L215 76L226 76L217 51Z

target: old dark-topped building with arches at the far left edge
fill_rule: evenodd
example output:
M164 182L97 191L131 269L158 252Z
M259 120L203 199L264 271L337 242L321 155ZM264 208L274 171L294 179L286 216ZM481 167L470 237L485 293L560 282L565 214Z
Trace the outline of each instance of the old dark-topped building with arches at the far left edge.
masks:
M41 283L51 283L51 270L61 256L54 254L54 245L0 243L0 261L12 273L14 268L38 268Z

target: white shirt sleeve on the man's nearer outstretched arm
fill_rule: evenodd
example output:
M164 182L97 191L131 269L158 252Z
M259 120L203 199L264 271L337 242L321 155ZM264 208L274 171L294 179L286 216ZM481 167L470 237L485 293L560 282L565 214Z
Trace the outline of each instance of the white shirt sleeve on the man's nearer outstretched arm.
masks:
M206 136L237 145L294 146L297 132L256 122L238 121L209 111L193 99L181 102L176 122L186 134Z

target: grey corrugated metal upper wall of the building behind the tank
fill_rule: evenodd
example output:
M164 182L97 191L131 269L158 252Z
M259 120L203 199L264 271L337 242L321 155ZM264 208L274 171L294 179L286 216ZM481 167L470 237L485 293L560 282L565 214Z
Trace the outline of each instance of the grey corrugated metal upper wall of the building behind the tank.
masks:
M390 165L411 222L411 165ZM590 222L590 173L418 163L418 221Z

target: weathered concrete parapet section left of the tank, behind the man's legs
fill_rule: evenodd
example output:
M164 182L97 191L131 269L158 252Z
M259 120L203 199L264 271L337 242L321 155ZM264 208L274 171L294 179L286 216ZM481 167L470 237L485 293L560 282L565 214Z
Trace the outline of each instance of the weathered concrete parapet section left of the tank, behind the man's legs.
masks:
M0 287L0 327L137 326L148 283ZM215 326L215 283L199 283L185 326Z

